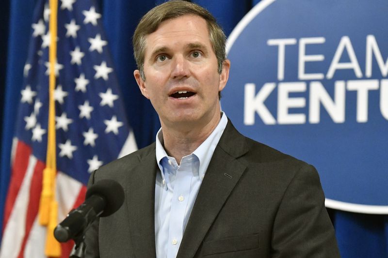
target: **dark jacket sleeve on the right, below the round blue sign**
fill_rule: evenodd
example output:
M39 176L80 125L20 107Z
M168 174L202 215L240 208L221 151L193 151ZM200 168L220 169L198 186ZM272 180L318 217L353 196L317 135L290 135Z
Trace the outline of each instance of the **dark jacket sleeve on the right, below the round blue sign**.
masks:
M318 172L304 165L289 183L276 213L274 258L339 258L334 228L324 207Z

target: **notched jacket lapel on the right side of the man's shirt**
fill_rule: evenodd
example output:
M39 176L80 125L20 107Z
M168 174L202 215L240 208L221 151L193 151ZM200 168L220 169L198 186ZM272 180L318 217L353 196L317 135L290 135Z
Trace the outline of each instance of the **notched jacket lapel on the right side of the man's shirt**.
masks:
M244 137L228 121L214 150L183 234L177 258L194 257L246 166L237 157L248 151Z

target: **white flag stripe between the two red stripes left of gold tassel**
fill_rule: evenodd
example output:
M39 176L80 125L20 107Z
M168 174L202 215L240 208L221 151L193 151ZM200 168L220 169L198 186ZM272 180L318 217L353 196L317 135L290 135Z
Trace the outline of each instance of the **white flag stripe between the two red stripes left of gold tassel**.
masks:
M1 242L0 258L17 257L26 227L27 207L30 200L30 187L33 171L37 159L30 155L26 174L17 194L14 207L4 228L4 235Z

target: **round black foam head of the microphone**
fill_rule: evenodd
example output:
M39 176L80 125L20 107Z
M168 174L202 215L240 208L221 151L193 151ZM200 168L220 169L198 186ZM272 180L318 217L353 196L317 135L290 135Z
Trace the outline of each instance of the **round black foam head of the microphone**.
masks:
M124 202L123 187L118 182L111 179L103 179L93 184L86 191L85 199L92 195L99 195L105 199L105 208L100 214L100 217L106 217L113 214L120 209Z

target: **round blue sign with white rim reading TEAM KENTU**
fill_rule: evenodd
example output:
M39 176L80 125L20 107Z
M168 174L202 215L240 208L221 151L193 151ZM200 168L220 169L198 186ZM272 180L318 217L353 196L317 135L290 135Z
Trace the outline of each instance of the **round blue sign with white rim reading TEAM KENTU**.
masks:
M222 107L317 167L326 206L388 213L388 2L263 0L228 40Z

